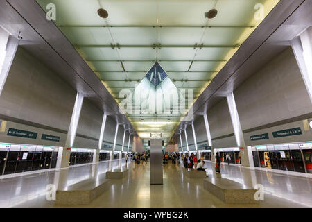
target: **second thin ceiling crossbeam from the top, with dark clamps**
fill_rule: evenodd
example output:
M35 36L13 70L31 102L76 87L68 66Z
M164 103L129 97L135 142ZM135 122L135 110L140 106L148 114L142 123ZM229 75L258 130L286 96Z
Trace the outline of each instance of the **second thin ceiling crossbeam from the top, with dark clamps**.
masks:
M151 44L151 45L144 45L144 44L137 44L137 45L132 45L132 44L74 44L73 46L78 47L78 48L112 48L112 49L120 49L120 48L193 48L193 49L202 49L202 48L233 48L236 49L240 44L234 44L234 45L212 45L212 44L189 44L189 45L175 45L175 44Z

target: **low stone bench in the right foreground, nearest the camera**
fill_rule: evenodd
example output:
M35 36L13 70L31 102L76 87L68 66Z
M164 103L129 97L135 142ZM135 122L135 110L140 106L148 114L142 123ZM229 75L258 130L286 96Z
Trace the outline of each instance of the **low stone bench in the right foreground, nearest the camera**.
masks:
M259 203L254 200L257 189L243 187L240 183L226 178L206 178L204 188L225 203Z

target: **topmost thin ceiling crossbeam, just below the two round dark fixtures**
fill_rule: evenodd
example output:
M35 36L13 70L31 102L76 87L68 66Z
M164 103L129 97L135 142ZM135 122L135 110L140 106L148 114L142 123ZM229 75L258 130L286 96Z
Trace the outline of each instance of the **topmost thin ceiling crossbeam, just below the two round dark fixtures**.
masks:
M117 26L97 26L97 25L59 25L60 28L255 28L255 26L196 26L196 25L117 25Z

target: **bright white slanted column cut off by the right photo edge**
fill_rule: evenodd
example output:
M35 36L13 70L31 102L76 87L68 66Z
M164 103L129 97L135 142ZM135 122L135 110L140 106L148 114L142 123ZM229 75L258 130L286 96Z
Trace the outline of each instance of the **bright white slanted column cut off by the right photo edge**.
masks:
M295 37L291 47L312 103L312 27Z

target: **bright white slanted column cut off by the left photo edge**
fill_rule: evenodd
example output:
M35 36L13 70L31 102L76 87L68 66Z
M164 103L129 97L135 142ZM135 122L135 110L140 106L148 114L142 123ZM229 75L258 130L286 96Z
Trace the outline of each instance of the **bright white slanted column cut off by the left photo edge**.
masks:
M15 58L17 47L19 46L19 39L8 35L6 31L0 27L0 40L6 42L3 47L0 46L0 96L6 84L6 78L10 71L12 62ZM6 41L7 40L7 41Z

